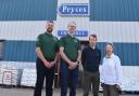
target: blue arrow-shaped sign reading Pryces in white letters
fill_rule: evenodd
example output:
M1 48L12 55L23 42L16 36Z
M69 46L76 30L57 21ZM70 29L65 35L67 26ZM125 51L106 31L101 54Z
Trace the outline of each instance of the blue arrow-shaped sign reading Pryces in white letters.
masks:
M59 8L61 15L89 15L88 3L64 3Z

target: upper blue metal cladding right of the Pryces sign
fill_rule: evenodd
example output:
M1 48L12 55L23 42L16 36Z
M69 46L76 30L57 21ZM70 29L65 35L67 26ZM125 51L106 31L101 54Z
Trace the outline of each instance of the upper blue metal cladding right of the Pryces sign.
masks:
M139 22L139 0L90 0L90 20Z

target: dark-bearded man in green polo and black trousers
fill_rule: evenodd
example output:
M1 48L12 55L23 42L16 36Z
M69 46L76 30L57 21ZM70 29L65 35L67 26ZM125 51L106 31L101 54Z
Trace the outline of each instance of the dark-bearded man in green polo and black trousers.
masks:
M54 79L54 64L58 59L58 38L52 36L53 22L46 24L47 31L38 36L36 41L37 53L37 81L34 96L41 96L43 80L46 78L46 96L52 96Z

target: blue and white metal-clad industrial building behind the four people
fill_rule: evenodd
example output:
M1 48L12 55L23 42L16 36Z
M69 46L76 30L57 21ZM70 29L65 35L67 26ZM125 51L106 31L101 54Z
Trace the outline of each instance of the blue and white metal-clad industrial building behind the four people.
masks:
M49 19L58 38L77 23L83 45L96 33L102 57L113 42L125 90L139 91L139 0L0 0L0 68L35 69L35 41Z

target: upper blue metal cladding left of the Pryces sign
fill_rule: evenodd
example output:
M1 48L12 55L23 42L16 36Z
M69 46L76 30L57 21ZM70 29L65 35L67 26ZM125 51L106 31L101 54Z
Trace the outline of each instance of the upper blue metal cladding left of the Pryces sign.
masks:
M0 20L56 19L58 0L0 0Z

